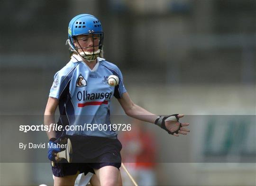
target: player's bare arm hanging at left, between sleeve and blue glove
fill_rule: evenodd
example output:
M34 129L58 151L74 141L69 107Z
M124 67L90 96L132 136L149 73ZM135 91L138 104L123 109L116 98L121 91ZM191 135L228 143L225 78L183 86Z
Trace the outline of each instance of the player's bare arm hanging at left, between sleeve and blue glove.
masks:
M59 104L59 101L57 98L49 97L47 104L46 104L46 110L45 110L45 116L44 116L44 124L49 125L55 124L54 114L55 110ZM46 131L48 139L55 138L56 134L55 131L51 130L50 132Z

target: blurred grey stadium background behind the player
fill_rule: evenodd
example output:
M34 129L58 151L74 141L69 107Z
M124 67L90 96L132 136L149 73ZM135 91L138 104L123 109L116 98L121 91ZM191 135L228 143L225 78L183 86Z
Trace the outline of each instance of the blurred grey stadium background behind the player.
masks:
M69 61L68 23L89 13L101 20L104 57L134 102L190 115L185 137L148 127L165 144L157 158L172 159L156 164L157 185L256 185L255 0L1 0L0 12L1 116L44 113L53 76ZM120 110L114 100L112 113ZM248 119L234 124L241 115ZM182 155L190 160L174 160ZM0 178L1 186L53 184L49 163L1 159Z

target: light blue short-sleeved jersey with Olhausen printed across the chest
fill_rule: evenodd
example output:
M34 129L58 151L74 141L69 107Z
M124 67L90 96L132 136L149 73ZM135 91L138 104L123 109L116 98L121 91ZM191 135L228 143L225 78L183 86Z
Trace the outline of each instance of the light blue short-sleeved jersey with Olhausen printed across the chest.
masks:
M57 137L66 133L116 138L117 133L109 127L110 100L112 97L121 98L126 89L122 73L116 65L99 57L97 61L91 70L80 56L73 55L70 62L55 74L49 97L59 100L61 116L58 124L82 126L82 130L77 128L64 131L57 133ZM110 87L108 84L110 75L119 77L119 84L116 87ZM88 124L106 125L104 129L94 127L90 130L87 128L90 126Z

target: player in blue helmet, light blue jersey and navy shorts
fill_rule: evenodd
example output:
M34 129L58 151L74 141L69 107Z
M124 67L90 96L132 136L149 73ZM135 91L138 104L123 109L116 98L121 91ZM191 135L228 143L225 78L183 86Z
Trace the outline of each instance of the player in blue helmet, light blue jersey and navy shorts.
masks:
M50 90L45 111L45 125L55 123L54 114L59 106L60 118L57 124L78 126L83 124L110 124L110 100L114 96L128 116L155 123L170 134L187 134L188 123L179 123L183 115L158 116L137 106L130 99L123 84L122 73L113 63L100 58L103 46L101 22L92 15L81 14L74 17L68 27L68 43L75 54L60 71ZM108 77L116 75L119 84L108 85ZM66 128L65 128L66 129ZM87 128L88 129L88 128ZM94 128L91 130L55 130L47 133L48 158L57 162L55 156L61 151L54 148L62 136L68 136L76 151L74 163L56 163L52 167L54 185L74 185L78 173L92 172L92 185L122 185L119 168L122 148L117 133ZM77 163L75 163L77 162Z

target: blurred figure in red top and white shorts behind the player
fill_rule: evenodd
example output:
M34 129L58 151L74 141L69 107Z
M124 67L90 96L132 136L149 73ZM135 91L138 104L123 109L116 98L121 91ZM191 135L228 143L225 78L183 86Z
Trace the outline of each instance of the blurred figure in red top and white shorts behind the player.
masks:
M155 177L155 137L142 121L134 120L131 131L119 134L123 145L122 161L139 186L156 186ZM124 186L133 183L121 170Z

